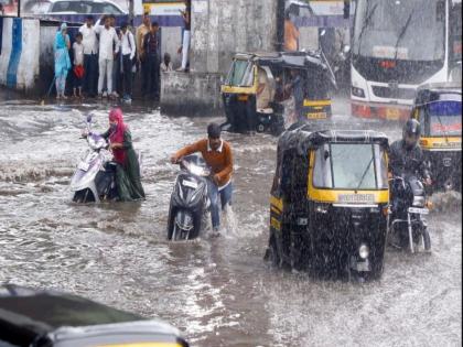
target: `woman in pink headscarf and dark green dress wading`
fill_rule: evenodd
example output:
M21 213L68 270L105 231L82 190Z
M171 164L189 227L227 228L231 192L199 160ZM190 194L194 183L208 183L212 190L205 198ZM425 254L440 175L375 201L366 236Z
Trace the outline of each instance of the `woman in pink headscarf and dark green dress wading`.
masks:
M109 140L109 150L116 162L116 186L122 202L144 198L140 180L140 163L132 145L132 135L123 122L119 108L109 112L109 129L101 134Z

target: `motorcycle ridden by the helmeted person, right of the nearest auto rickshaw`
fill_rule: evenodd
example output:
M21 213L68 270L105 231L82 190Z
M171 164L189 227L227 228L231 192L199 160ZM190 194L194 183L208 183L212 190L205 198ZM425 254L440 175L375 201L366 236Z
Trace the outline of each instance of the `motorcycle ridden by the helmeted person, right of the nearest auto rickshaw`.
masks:
M416 175L396 176L391 180L392 203L389 215L389 234L398 245L411 253L418 249L420 241L424 251L431 250L431 238L424 216L429 215L427 192Z

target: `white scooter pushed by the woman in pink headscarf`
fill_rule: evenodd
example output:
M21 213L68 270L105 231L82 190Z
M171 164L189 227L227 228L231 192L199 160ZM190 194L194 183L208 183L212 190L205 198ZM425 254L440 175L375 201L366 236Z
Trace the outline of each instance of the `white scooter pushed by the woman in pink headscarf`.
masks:
M111 156L106 151L108 142L105 138L91 132L91 116L87 117L82 139L87 140L89 150L71 180L73 202L85 204L117 200L117 164L111 162Z

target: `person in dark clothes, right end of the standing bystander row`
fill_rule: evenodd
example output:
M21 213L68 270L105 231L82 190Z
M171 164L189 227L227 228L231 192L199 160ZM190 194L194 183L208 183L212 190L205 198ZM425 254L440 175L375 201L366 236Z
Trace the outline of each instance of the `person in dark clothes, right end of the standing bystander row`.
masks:
M143 52L147 59L146 71L143 73L143 85L147 86L147 91L143 97L152 96L154 100L159 99L159 24L151 23L150 32L143 39Z

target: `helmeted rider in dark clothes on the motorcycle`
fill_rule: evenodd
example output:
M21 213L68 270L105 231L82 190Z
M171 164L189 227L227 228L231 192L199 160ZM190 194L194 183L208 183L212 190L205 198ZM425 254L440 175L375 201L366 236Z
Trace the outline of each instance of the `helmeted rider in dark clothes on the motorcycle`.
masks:
M403 126L402 139L390 145L389 169L394 176L403 173L419 173L426 185L432 185L431 176L426 167L424 155L419 145L421 124L410 119Z

